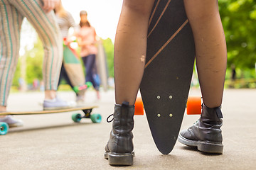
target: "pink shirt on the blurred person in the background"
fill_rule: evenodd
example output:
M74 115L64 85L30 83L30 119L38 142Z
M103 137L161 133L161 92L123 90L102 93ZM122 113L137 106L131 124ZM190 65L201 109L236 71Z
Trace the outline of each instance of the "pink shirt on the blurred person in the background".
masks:
M96 42L96 31L95 28L91 27L82 27L78 31L78 38L81 38L82 43L86 43L87 45L81 46L81 57L86 57L88 55L97 55L97 47L95 45Z

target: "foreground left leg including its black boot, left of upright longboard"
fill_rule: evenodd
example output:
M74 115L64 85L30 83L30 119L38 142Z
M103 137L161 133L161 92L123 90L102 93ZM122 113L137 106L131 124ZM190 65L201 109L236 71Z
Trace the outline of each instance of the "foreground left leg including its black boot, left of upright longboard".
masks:
M114 42L116 105L105 159L133 164L134 102L144 73L149 16L154 0L124 0Z

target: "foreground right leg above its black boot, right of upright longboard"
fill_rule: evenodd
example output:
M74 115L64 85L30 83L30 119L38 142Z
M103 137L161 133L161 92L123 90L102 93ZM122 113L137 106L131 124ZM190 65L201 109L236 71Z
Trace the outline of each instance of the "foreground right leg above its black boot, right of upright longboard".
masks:
M221 105L227 50L217 0L184 0L196 45L196 66L203 103Z

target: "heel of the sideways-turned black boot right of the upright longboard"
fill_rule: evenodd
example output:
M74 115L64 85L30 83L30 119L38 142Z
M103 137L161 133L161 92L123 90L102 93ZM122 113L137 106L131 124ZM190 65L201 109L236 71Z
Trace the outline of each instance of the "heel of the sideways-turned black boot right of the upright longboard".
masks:
M212 154L223 154L223 145L201 142L198 144L198 150Z

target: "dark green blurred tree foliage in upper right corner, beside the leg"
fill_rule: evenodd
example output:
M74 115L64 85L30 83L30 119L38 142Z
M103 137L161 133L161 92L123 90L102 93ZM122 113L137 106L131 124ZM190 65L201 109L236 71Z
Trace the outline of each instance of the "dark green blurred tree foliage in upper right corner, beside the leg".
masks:
M219 0L228 46L228 67L253 69L256 62L256 1Z

